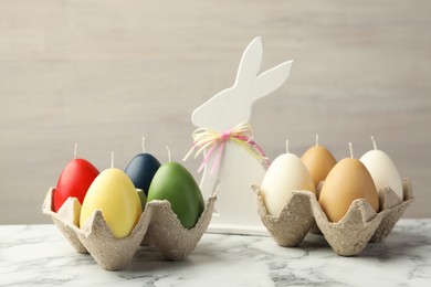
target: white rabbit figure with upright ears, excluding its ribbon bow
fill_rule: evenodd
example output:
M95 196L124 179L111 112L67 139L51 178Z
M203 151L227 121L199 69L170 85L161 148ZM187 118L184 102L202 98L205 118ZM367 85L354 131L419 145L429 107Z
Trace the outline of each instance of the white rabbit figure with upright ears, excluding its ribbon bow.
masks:
M222 134L240 123L249 123L253 103L278 88L287 79L293 63L287 61L260 73L262 57L262 39L255 38L242 55L234 85L195 109L193 125ZM251 185L262 182L267 167L238 144L227 140L224 145L220 166L211 172L219 152L216 150L204 164L200 183L204 198L208 198L217 179L221 180L217 204L219 216L212 217L209 231L265 234Z

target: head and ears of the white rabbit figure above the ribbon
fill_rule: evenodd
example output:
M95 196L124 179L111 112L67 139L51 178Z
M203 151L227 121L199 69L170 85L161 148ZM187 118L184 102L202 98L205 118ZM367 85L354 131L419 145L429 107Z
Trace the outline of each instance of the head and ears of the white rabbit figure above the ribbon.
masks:
M262 60L262 38L255 38L242 54L234 85L195 109L195 126L224 131L249 123L253 103L278 88L290 76L293 63L286 61L260 73Z

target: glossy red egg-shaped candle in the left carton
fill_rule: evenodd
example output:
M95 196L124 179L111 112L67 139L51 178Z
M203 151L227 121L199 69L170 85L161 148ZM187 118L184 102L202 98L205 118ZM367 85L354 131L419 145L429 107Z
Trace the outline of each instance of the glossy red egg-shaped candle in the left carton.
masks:
M69 198L76 198L82 204L85 194L98 176L98 170L87 160L76 158L69 162L60 174L54 192L54 211L57 212Z

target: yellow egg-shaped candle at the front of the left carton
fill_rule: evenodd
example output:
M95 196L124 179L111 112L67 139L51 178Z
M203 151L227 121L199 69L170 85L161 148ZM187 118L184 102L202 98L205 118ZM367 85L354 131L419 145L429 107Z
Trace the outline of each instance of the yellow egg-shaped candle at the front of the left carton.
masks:
M114 168L114 160L112 168L102 171L90 185L81 210L80 226L95 210L102 210L104 220L118 238L130 235L143 213L135 185L123 170Z

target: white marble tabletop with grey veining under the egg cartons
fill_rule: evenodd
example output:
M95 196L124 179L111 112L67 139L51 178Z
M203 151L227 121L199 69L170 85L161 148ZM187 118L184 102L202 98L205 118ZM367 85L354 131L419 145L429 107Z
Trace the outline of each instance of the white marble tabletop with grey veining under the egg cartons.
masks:
M401 220L382 243L336 255L319 235L284 248L271 237L204 234L182 262L141 247L120 272L77 254L54 225L0 226L0 286L431 286L431 220Z

